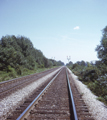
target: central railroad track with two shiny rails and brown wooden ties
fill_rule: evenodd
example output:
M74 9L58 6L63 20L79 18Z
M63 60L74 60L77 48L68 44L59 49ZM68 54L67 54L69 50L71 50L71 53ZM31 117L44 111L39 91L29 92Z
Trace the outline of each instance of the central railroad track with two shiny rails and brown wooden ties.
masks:
M76 89L72 76L64 67L16 108L7 120L94 119Z

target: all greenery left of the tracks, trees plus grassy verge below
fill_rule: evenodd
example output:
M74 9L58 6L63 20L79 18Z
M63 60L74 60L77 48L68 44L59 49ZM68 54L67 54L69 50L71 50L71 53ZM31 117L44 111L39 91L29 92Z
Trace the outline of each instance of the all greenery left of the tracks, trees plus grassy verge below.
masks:
M48 59L34 48L29 38L6 35L0 39L0 81L61 65L64 63Z

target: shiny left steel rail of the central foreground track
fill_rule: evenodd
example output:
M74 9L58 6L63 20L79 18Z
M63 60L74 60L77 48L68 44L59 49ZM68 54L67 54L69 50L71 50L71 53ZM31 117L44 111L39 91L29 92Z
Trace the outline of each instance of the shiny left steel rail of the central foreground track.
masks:
M32 103L23 111L23 113L16 119L16 120L25 120L25 118L30 114L30 110L33 108L33 106L39 101L39 99L42 97L43 93L48 89L48 87L52 84L52 82L56 79L56 77L59 75L62 69L57 73L57 75L48 83L48 85L42 90L42 92L32 101Z

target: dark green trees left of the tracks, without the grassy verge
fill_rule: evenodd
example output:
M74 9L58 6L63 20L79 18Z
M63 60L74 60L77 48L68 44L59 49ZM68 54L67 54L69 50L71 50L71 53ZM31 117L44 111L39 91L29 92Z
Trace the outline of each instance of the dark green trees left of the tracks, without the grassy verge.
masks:
M40 50L33 47L29 38L6 35L0 40L0 70L62 65L61 62L47 59Z

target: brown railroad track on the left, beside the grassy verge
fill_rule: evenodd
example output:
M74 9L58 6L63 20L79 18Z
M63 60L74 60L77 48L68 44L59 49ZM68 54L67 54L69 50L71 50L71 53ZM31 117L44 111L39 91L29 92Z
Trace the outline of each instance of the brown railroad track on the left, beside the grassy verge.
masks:
M0 99L3 99L6 96L9 96L11 93L15 92L18 89L21 89L28 84L31 84L32 82L44 77L45 75L55 71L58 68L50 69L47 71L43 71L41 73L35 73L32 75L15 78L12 80L0 82Z

